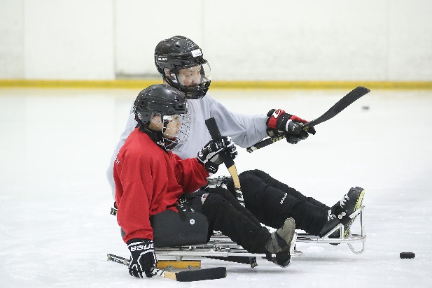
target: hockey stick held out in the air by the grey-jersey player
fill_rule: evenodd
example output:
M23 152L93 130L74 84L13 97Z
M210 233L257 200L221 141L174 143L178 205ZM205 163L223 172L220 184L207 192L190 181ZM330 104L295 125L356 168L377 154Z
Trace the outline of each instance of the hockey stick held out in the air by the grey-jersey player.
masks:
M307 130L309 127L313 127L317 124L320 124L322 122L325 122L333 117L335 117L337 114L339 114L344 108L347 108L350 106L354 101L357 99L360 99L361 96L368 94L370 92L370 89L359 86L356 89L349 92L347 95L343 96L342 99L337 101L335 105L333 105L326 113L319 116L315 120L312 120L311 122L307 122L305 124L302 124L302 129ZM247 147L246 150L249 153L252 153L255 150L258 150L260 148L263 148L265 146L268 146L270 144L273 144L274 142L277 142L279 140L284 139L286 136L285 134L279 134L277 136L272 136L269 138L266 138L255 145L252 145L251 147Z

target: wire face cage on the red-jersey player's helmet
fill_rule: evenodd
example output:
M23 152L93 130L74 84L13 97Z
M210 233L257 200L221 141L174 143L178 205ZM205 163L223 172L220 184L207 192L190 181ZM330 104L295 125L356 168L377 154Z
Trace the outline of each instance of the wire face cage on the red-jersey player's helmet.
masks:
M179 129L167 129L167 125L169 122L176 121L175 118L178 117L180 122ZM165 115L163 117L164 126L162 128L162 136L165 148L167 150L176 150L178 149L189 137L190 130L190 114L187 112L185 114L178 115ZM172 133L167 133L167 130L173 131L177 130L173 135Z

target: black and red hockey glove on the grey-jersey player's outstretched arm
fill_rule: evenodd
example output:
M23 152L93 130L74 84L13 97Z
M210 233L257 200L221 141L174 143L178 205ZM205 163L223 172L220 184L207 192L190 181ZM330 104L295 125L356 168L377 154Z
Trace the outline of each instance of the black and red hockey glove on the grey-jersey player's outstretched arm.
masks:
M286 135L286 141L291 144L296 144L300 140L305 140L309 134L314 135L316 133L314 127L309 127L309 129L302 130L302 124L307 123L306 120L285 113L284 110L272 109L267 113L267 134L269 136L275 136L281 133Z

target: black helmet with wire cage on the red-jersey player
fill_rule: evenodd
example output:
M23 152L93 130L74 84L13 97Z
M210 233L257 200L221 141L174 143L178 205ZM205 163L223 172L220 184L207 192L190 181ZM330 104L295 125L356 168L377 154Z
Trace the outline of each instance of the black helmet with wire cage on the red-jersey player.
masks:
M148 124L155 116L163 122L162 141L167 150L174 150L189 136L190 115L184 94L174 87L157 84L139 92L134 101L134 114L139 127L149 131ZM175 129L167 128L169 122L178 122Z

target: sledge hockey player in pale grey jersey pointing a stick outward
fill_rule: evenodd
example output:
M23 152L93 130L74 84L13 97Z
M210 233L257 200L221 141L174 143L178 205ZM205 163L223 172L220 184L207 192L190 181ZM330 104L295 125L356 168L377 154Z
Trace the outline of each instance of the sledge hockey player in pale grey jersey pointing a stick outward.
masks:
M267 115L243 115L229 111L221 103L207 94L211 83L210 66L204 59L202 50L189 38L174 36L160 41L155 48L155 66L163 82L179 89L186 95L191 116L190 136L174 153L182 159L195 157L211 136L205 126L205 120L214 117L221 135L230 136L240 147L249 147L267 136L284 133L286 141L296 144L305 140L309 134L315 134L313 127L303 131L300 124L307 121L285 113L284 110L270 110ZM115 194L113 181L113 163L127 136L135 127L133 109L127 120L125 131L111 157L107 178ZM244 204L263 224L274 228L280 227L285 219L295 219L297 229L302 229L314 236L324 236L335 226L344 224L344 236L349 235L349 226L354 219L348 216L360 208L364 189L354 187L344 194L342 200L329 207L302 195L288 185L272 178L260 170L244 171L239 180L242 186ZM235 194L232 179L225 184ZM263 202L263 199L266 201ZM263 204L265 203L265 205ZM335 231L331 237L338 238Z

